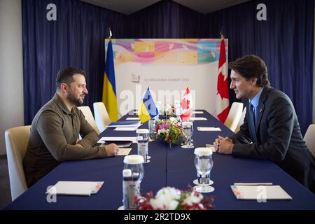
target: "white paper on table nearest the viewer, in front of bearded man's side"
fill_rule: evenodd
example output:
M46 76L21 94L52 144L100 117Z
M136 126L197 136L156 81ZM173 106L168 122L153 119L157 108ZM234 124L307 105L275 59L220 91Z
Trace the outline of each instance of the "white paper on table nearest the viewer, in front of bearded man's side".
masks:
M97 193L103 183L103 181L58 181L46 191L46 194L90 196Z

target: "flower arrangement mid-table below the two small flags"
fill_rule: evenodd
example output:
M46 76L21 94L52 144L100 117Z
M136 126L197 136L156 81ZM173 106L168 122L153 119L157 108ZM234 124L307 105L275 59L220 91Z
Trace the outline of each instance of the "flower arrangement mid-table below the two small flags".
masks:
M183 137L183 128L176 118L170 120L158 120L155 126L158 139L164 140L169 144L178 144Z

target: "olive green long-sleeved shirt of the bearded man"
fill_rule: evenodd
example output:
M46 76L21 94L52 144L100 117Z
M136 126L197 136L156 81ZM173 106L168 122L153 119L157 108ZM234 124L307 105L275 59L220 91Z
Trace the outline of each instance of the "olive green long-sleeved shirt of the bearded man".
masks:
M78 134L82 137L80 141ZM31 123L23 161L27 185L33 185L62 161L106 157L104 147L94 146L97 139L97 132L87 123L83 113L76 106L69 111L55 94Z

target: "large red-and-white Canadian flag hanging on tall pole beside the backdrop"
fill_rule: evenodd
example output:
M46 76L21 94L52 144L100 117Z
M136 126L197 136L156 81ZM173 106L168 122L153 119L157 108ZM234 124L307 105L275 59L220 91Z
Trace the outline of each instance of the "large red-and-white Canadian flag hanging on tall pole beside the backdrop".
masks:
M228 84L228 63L225 55L224 38L221 38L220 57L218 64L218 82L216 94L216 116L221 123L225 123L230 111L229 84Z

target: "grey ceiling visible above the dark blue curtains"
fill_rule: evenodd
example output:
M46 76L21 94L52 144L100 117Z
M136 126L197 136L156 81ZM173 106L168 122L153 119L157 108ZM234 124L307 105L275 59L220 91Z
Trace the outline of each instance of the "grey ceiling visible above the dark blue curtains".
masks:
M80 0L108 8L119 13L130 15L161 0ZM216 10L235 6L249 0L172 0L200 13L211 13Z

